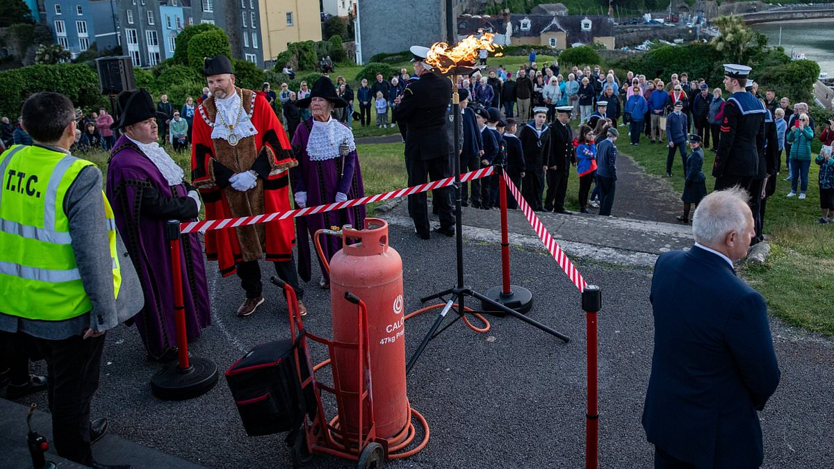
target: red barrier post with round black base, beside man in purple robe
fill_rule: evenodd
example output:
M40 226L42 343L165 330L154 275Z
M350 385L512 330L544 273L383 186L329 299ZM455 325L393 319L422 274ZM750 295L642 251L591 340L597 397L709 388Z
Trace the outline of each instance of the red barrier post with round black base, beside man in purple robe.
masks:
M179 220L168 220L165 235L171 244L171 280L176 327L178 363L166 365L151 378L153 396L165 401L184 401L202 396L217 384L217 364L206 358L188 356L188 335L183 300L183 270L180 262Z

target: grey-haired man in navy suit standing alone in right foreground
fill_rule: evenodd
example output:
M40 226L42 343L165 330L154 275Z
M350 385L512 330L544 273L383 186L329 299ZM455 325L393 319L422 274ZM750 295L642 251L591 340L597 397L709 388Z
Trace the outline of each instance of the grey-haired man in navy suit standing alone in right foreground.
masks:
M655 265L655 349L642 422L656 468L761 466L756 411L780 371L765 300L732 265L756 235L747 198L739 188L707 195L692 220L696 244Z

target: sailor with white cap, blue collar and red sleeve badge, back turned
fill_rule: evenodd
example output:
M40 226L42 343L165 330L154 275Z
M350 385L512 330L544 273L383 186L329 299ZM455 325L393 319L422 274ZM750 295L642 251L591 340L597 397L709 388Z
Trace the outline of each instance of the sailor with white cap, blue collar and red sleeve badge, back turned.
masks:
M716 178L715 190L735 185L746 189L753 200L759 199L754 181L759 178L759 160L765 149L766 109L745 89L751 68L746 65L724 65L724 87L731 92L724 105L721 121L721 139L716 151L712 175ZM753 213L756 214L756 209Z

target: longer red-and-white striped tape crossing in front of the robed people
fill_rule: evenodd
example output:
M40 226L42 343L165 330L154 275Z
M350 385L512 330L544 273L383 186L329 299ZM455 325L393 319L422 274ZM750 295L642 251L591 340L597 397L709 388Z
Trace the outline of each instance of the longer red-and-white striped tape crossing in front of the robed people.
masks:
M469 173L460 174L460 181L466 182L473 179L485 178L495 172L492 166L487 168L477 169ZM347 209L355 205L370 204L371 202L379 202L387 199L396 199L404 195L418 194L432 189L440 189L441 187L455 184L455 177L450 176L444 179L438 179L426 184L415 185L405 189L385 192L384 194L366 195L359 199L345 200L344 202L336 202L334 204L316 205L314 207L305 207L304 209L287 210L285 212L274 212L272 214L259 214L249 217L227 218L227 219L207 219L203 221L192 221L179 225L179 230L182 233L192 233L194 231L208 231L211 229L234 228L235 226L243 226L245 224L259 224L269 223L279 219L288 219L290 217L303 217L304 215L321 214L331 210Z

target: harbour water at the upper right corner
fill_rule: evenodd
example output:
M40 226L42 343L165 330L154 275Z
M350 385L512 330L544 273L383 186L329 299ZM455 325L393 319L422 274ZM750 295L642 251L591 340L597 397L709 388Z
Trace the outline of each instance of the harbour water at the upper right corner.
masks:
M779 43L781 28L781 45L785 53L792 55L804 53L805 58L820 64L820 71L834 77L834 38L831 36L831 20L799 20L781 23L763 23L752 25L753 29L765 33L769 45Z

